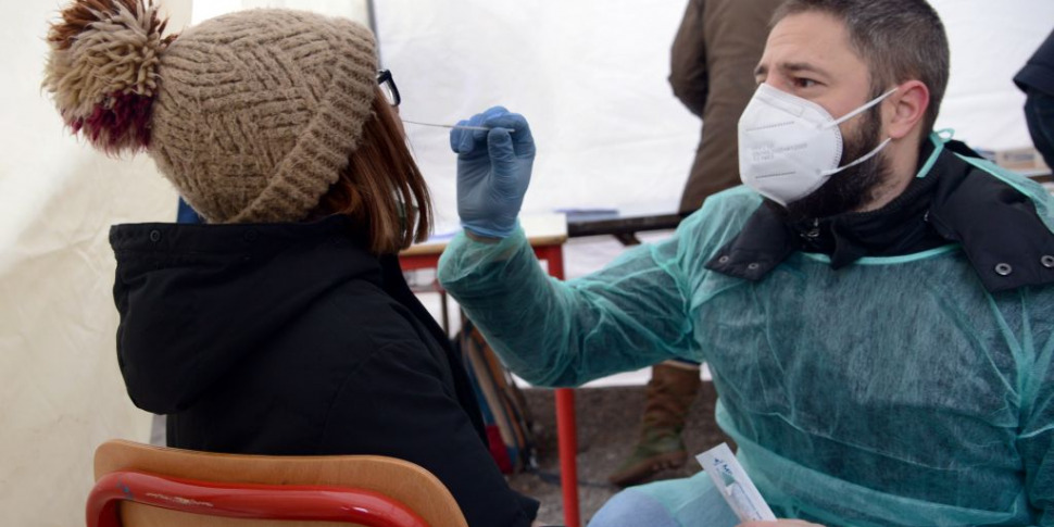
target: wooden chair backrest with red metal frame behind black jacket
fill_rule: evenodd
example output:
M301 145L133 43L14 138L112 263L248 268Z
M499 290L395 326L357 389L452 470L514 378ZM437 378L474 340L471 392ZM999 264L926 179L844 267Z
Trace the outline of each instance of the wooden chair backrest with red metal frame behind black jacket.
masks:
M430 527L467 527L457 502L436 476L392 457L217 454L118 439L96 450L95 476L96 490L88 503L89 526L105 525L93 524L91 516L105 516L100 514L105 512L102 507L120 494L120 525L125 527L419 525L407 519L410 516ZM228 489L248 489L251 499L239 498ZM217 501L188 495L215 497ZM261 503L267 511L260 510ZM227 511L230 506L236 513ZM243 511L238 514L240 506ZM359 511L359 516L349 517L361 523L249 519L332 518L324 514L305 516L302 514L305 506L315 511L327 506ZM371 507L375 510L373 513L363 512ZM301 515L274 515L275 511L298 509Z

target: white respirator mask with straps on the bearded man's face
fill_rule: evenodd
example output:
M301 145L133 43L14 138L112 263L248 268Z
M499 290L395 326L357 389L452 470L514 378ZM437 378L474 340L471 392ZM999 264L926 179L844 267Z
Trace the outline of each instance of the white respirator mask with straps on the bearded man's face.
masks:
M838 166L842 159L842 133L838 125L882 102L894 91L896 88L835 120L813 101L767 84L758 86L739 118L740 178L748 187L785 206L813 193L831 175L867 161L889 145L887 138L861 159Z

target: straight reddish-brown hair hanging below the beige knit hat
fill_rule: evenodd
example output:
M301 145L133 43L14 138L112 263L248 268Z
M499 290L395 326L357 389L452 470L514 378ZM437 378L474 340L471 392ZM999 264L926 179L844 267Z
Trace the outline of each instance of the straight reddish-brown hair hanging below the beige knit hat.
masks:
M428 186L380 88L359 148L312 216L344 214L366 235L374 254L392 254L424 241L431 228Z

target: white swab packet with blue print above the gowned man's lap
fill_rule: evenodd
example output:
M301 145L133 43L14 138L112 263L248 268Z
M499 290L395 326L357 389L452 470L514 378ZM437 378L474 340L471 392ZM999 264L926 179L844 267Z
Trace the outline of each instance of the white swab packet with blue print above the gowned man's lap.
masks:
M714 480L714 486L732 507L740 522L776 519L757 487L750 480L742 465L736 461L728 444L720 443L695 456L703 470Z

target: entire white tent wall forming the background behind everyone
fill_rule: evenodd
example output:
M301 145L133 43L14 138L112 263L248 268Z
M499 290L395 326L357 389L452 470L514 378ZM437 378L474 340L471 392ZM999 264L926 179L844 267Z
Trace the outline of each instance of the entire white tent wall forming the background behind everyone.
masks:
M1049 0L932 0L952 43L939 125L986 148L1029 143L1011 77L1051 30ZM164 0L172 26L191 0ZM108 159L70 137L40 89L42 36L58 2L8 5L0 64L0 518L83 522L91 453L146 441L149 415L117 371L111 224L170 221L175 193L147 156ZM199 0L195 20L247 7L360 16L339 0ZM492 104L524 113L539 147L525 211L617 206L669 211L699 122L666 85L685 0L376 0L384 63L402 115L452 124ZM407 125L438 203L456 226L447 133ZM611 246L608 246L611 247ZM610 249L617 251L617 249ZM568 266L575 265L574 254ZM599 265L605 258L593 258Z

